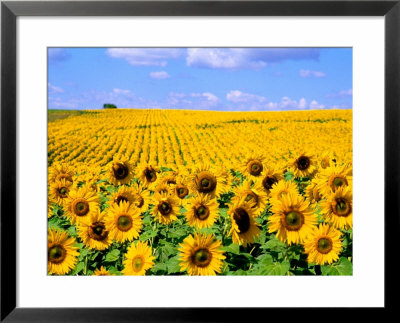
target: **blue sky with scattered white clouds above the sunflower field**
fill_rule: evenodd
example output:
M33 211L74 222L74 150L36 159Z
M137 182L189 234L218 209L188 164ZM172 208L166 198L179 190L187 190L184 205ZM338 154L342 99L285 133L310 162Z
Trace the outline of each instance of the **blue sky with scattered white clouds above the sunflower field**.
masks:
M351 48L49 48L48 108L351 109Z

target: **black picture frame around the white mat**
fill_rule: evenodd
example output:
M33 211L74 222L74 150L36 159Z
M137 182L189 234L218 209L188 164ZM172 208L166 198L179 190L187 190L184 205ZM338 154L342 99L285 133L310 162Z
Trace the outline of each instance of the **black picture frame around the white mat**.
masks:
M288 308L19 308L16 263L16 19L19 16L384 16L385 19L385 306L396 306L400 236L400 0L380 1L2 1L1 3L1 317L3 322L229 321L288 315ZM371 129L373 131L373 129ZM373 152L371 152L373 153ZM368 162L368 161L366 161ZM373 165L371 165L373 167ZM371 168L373 169L373 168ZM373 173L372 173L373 174ZM373 176L373 175L372 175ZM373 179L371 179L373 188ZM368 201L366 201L368 202ZM393 258L394 255L394 258ZM40 291L38 291L40 297ZM396 293L397 294L397 293ZM166 295L166 297L168 297ZM249 295L248 297L251 297ZM300 297L300 296L299 296ZM318 295L316 295L318 297ZM329 307L329 304L327 304ZM325 309L324 316L338 309ZM268 313L267 313L268 311ZM248 316L250 315L250 316ZM373 318L373 316L370 316ZM265 320L267 317L265 316Z

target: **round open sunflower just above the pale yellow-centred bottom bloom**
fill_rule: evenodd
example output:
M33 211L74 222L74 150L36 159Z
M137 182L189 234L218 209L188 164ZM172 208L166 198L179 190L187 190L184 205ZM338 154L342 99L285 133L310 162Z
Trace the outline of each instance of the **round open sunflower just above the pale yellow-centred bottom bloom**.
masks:
M123 243L139 236L142 218L137 207L122 201L119 204L112 204L107 210L105 224L111 239Z

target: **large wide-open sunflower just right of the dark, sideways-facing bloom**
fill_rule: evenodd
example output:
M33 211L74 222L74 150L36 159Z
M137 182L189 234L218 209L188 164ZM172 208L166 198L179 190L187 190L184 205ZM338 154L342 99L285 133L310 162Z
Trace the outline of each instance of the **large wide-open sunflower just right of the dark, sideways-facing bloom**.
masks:
M276 232L277 238L288 245L302 243L317 223L317 217L309 203L298 194L282 196L272 207L273 215L268 219L268 232Z

